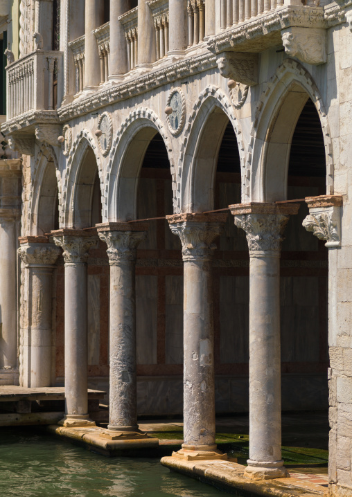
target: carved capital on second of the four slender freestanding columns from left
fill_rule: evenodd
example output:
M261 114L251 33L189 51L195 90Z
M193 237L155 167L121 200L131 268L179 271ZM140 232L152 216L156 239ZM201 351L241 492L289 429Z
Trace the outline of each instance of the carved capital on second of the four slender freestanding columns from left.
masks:
M146 231L100 231L100 240L107 244L109 264L116 266L135 262L137 259L137 246L146 240Z

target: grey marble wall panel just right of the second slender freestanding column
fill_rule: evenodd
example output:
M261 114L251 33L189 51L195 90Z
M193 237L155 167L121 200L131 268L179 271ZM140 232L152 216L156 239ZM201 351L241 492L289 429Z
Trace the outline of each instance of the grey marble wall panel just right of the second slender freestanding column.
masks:
M137 275L137 364L157 363L157 291L157 276Z

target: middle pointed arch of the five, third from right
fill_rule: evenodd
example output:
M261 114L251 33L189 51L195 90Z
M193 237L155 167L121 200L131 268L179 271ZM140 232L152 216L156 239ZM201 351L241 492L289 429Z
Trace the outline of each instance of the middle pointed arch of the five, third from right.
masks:
M175 183L172 148L161 120L145 107L132 111L112 144L105 178L104 221L136 219L139 172L150 140L157 132L164 140Z

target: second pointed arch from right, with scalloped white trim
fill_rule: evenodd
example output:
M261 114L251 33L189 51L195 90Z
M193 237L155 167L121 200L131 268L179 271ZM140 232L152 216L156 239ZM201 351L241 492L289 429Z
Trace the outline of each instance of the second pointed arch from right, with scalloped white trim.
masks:
M243 170L245 147L229 98L218 87L207 87L188 119L177 169L177 212L202 212L213 208L213 176L227 123L234 127Z

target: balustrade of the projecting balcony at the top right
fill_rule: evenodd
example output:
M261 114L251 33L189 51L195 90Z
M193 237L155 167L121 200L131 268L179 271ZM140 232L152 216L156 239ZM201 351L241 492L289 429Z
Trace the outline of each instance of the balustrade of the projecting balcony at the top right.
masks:
M220 28L226 29L282 7L284 0L220 0Z

